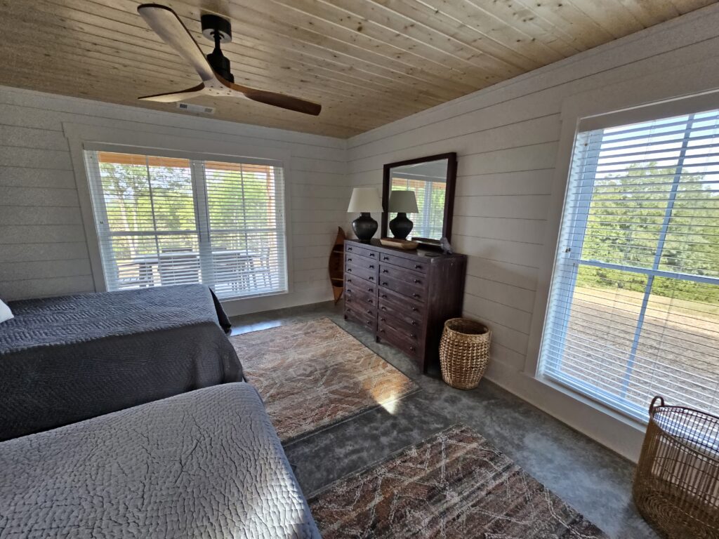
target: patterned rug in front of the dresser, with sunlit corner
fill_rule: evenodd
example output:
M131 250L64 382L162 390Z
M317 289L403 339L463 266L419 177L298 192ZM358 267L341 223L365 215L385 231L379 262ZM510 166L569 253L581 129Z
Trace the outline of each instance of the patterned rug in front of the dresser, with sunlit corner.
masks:
M329 318L230 337L283 442L418 389Z

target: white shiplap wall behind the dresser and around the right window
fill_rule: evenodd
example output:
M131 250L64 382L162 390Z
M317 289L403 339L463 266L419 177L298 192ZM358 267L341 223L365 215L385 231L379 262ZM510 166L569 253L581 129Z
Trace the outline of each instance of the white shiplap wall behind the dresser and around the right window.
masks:
M493 330L488 377L632 459L641 443L636 425L597 415L590 403L533 377L546 305L536 299L551 275L546 253L555 249L554 213L561 213L566 185L566 177L557 180L557 164L569 157L558 152L562 106L619 83L631 92L633 79L664 73L657 83L662 97L677 96L673 70L697 80L719 73L718 27L713 5L360 134L347 146L355 187L380 187L388 162L458 153L452 244L469 255L464 314Z

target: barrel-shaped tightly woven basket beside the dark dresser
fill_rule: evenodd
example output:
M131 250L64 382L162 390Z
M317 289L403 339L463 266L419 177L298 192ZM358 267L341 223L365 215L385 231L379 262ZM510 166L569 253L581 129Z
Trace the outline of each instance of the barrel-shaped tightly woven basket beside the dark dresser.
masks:
M492 333L479 322L450 318L439 343L439 364L444 382L458 390L479 385L490 359Z

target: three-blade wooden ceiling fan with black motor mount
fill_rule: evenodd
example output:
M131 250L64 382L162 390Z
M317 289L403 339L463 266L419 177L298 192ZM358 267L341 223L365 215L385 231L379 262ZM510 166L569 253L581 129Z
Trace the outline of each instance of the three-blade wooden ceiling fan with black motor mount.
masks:
M234 76L229 70L229 60L222 54L221 43L232 41L232 26L229 20L219 15L205 14L201 17L202 34L215 43L214 50L205 56L193 39L180 17L167 6L160 4L140 4L137 12L145 19L162 41L173 47L197 71L202 82L197 86L171 93L158 93L139 99L173 103L198 96L244 97L278 106L290 111L303 112L317 116L322 106L318 103L305 101L296 97L285 96L283 93L255 90L234 83Z

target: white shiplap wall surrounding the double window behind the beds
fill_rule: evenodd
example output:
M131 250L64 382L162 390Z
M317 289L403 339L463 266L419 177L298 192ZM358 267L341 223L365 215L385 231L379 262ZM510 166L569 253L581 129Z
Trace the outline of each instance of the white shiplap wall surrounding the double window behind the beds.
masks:
M228 310L241 313L331 298L327 257L336 227L347 226L344 208L351 191L345 178L344 140L7 87L0 87L0 298L94 289L63 133L68 123L216 138L288 154L293 291L232 302Z

